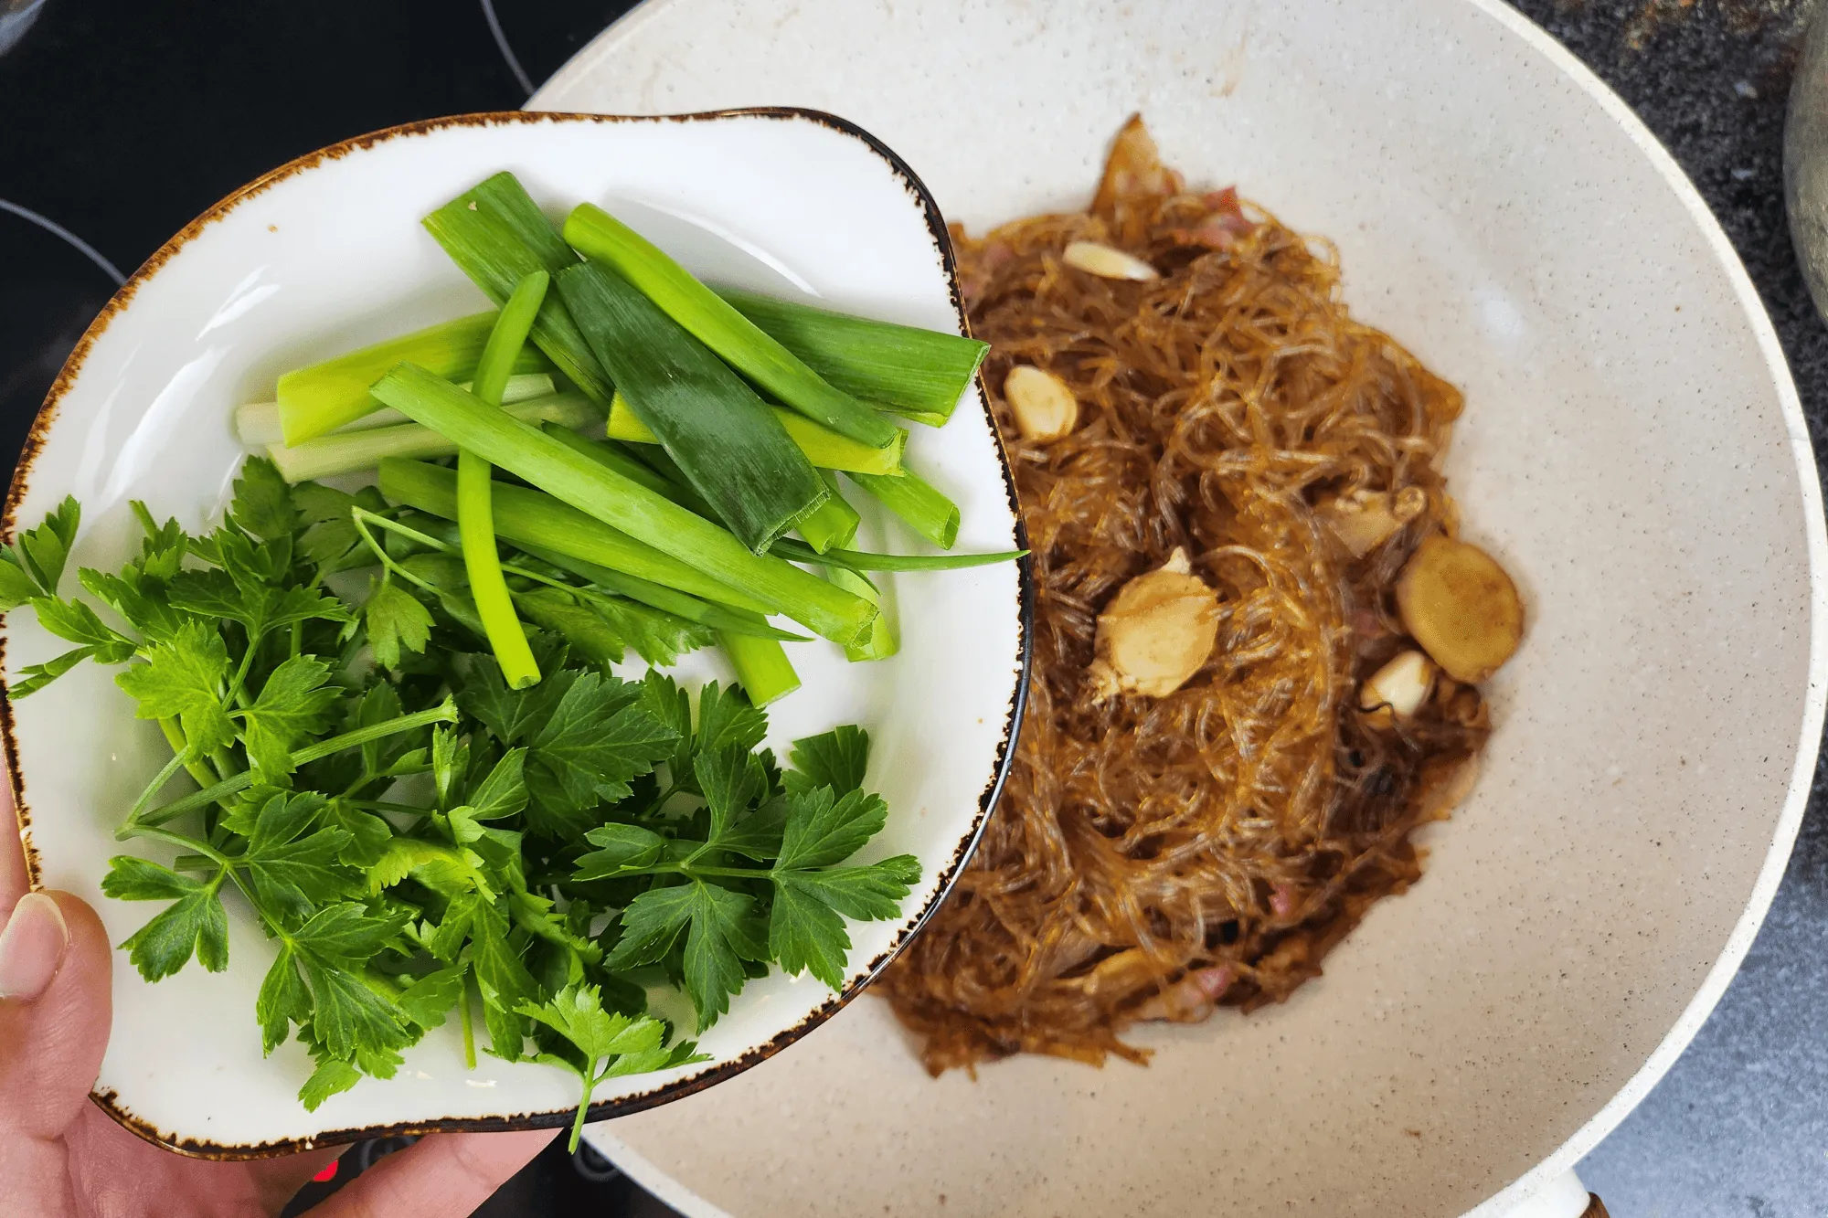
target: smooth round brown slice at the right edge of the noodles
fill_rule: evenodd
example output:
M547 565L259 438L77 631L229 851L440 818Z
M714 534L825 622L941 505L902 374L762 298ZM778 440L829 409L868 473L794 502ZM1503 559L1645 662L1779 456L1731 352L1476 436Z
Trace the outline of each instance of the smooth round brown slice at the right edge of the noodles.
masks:
M1397 609L1435 664L1468 684L1495 673L1523 640L1517 585L1466 541L1422 541L1397 578Z

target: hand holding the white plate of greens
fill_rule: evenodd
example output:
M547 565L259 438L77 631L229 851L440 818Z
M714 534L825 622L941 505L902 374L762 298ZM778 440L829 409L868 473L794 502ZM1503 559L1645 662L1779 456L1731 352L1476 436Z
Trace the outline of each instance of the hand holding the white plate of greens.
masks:
M90 1103L113 1015L113 953L69 892L31 892L0 781L0 1216L271 1218L338 1150L212 1163L172 1154ZM433 1134L391 1154L309 1218L457 1218L556 1130Z

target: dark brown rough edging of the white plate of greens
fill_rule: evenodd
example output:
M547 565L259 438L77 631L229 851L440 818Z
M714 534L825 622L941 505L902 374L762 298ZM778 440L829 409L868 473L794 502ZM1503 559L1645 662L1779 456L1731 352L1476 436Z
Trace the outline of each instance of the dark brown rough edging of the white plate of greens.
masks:
M605 27L605 33L611 27ZM890 174L901 181L907 192L912 196L914 205L919 208L921 218L929 230L929 240L934 245L934 252L940 254L940 265L947 280L947 291L951 296L952 313L958 318L960 333L971 335L971 322L965 315L963 296L958 287L958 262L952 251L951 234L945 227L945 218L940 212L932 192L919 179L918 174L903 161L892 148L888 148L881 139L863 130L856 123L843 119L823 110L810 106L733 106L720 110L696 110L686 113L665 113L665 115L603 115L603 113L569 113L556 110L484 110L473 113L442 115L435 119L417 119L413 123L400 123L395 126L386 126L375 132L366 132L362 135L353 135L349 139L340 139L303 155L292 157L285 165L272 168L260 177L254 177L243 187L230 190L227 196L207 207L197 214L196 219L186 223L170 240L166 240L152 256L146 258L139 269L126 278L126 282L108 298L95 320L82 331L77 346L71 349L69 357L64 360L51 382L38 413L33 417L31 430L27 432L26 444L20 450L18 465L13 468L13 477L7 486L5 505L0 508L0 541L11 543L18 534L18 508L26 497L31 483L33 465L49 437L51 428L57 424L64 397L75 386L77 377L82 371L95 342L102 337L110 324L121 316L139 287L150 282L172 258L175 258L185 245L203 234L203 230L234 212L239 205L249 199L265 194L267 190L289 181L307 170L318 168L327 161L338 161L345 155L367 152L378 144L389 143L402 137L433 135L446 130L461 128L490 128L490 126L541 126L541 124L660 124L660 123L715 123L728 119L771 119L771 121L790 121L790 123L812 123L815 126L824 126L839 135L863 144L870 154L887 163ZM1009 507L1011 519L1015 523L1015 541L1018 550L1027 550L1027 529L1022 523L1022 512L1016 501L1015 472L1009 466L1009 454L1002 443L1002 435L996 430L994 417L991 415L989 393L983 384L982 368L972 373L972 384L978 390L978 401L985 413L985 421L991 424L991 439L996 448L996 465L1004 479L1004 496ZM983 827L989 819L991 808L996 805L996 797L1002 794L1004 783L1009 779L1009 772L1015 766L1015 741L1022 730L1022 719L1027 710L1029 677L1033 668L1033 638L1035 638L1035 565L1033 558L1024 554L1016 560L1016 669L1015 684L1009 695L1009 706L1004 717L1004 726L996 744L996 759L991 768L991 777L978 796L978 808L971 817L969 832L960 839L952 852L952 858L945 861L940 869L940 883L934 889L927 903L910 918L903 918L901 931L881 951L876 958L865 966L863 973L845 986L843 991L830 995L817 1008L808 1011L792 1028L786 1028L768 1041L746 1050L731 1061L711 1066L709 1070L700 1070L696 1074L675 1079L653 1090L638 1092L634 1095L622 1095L616 1099L605 1099L592 1103L587 1114L589 1121L605 1121L616 1116L631 1116L645 1108L653 1108L682 1095L691 1095L702 1092L707 1086L722 1083L724 1079L735 1077L744 1070L773 1057L781 1050L788 1048L802 1035L828 1020L839 1010L843 1010L852 999L861 995L876 977L881 975L885 967L901 953L903 947L919 933L927 920L940 909L941 902L951 894L952 885L958 881L960 872L971 860L978 847L978 839L983 836ZM27 891L42 891L42 865L38 860L38 850L31 839L31 807L26 799L26 781L20 764L20 746L15 733L15 708L11 689L4 675L7 633L4 629L4 616L0 616L0 748L5 753L5 779L13 794L13 808L18 823L18 839L26 856L26 880ZM512 1130L530 1130L530 1128L563 1128L576 1117L576 1108L550 1110L550 1112L521 1112L508 1116L488 1116L488 1117L441 1117L430 1121L397 1121L397 1123L377 1123L362 1127L345 1127L325 1130L320 1134L311 1134L303 1138L282 1138L261 1143L218 1143L208 1139L185 1138L175 1132L161 1130L157 1125L135 1116L124 1103L121 1103L119 1094L113 1088L99 1088L90 1092L90 1099L110 1117L113 1117L121 1127L133 1132L135 1136L150 1141L157 1147L183 1154L196 1159L212 1161L245 1161L245 1159L265 1159L285 1154L298 1154L302 1150L313 1150L320 1147L345 1145L353 1141L364 1141L371 1138L400 1138L400 1136L422 1136L422 1134L444 1134L444 1132L512 1132Z

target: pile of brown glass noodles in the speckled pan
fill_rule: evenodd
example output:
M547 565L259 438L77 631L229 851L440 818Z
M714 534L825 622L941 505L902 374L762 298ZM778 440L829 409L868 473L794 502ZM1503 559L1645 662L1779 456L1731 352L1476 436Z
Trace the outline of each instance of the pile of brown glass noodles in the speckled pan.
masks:
M1280 1002L1371 902L1420 876L1409 832L1464 794L1486 733L1442 678L1398 726L1358 710L1395 655L1393 583L1453 534L1437 472L1461 395L1340 302L1325 241L1194 194L1137 121L1093 208L954 232L1035 552L1035 677L976 858L879 988L934 1074L1007 1053L1102 1063L1146 1019ZM1062 263L1100 241L1161 278ZM1079 428L1035 444L1002 384L1064 379ZM1419 486L1366 558L1316 507ZM1097 614L1185 547L1217 647L1175 693L1095 702Z

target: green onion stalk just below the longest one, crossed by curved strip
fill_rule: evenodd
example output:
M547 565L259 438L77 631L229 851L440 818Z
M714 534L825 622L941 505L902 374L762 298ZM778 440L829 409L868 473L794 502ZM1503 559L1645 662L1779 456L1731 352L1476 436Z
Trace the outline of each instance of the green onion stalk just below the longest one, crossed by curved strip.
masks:
M444 466L389 457L380 463L380 494L393 503L404 503L444 519L457 519L457 474ZM653 580L720 605L773 613L771 604L739 593L673 554L636 541L614 525L585 516L548 494L512 483L495 483L490 499L495 510L495 534L530 554L550 550Z

